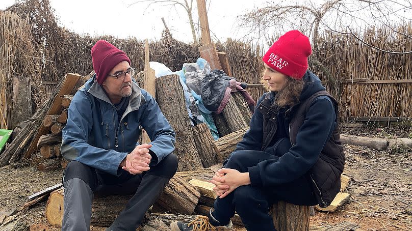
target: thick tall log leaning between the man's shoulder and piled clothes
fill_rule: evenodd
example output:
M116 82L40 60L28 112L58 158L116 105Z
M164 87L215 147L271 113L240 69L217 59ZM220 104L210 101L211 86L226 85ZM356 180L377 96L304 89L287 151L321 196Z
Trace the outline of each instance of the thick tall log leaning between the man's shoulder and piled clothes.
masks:
M178 170L202 168L202 162L193 139L193 132L179 76L166 75L158 78L156 81L156 92L156 100L159 103L159 107L176 132L174 154L179 158Z

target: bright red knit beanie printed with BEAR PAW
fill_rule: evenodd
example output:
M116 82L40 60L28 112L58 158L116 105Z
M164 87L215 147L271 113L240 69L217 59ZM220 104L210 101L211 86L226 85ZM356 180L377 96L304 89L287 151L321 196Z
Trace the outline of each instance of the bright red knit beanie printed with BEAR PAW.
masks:
M299 31L289 31L273 43L262 60L282 74L302 79L309 67L307 57L311 54L309 39Z

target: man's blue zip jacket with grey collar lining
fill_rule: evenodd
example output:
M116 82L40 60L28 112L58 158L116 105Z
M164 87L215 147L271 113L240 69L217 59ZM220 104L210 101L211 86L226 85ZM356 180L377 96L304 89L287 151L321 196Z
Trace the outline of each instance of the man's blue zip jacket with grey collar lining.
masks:
M152 140L151 165L173 152L175 132L150 94L132 81L132 95L119 123L114 105L95 76L76 92L70 103L62 131L61 153L66 160L118 176L121 161L139 145L139 125Z

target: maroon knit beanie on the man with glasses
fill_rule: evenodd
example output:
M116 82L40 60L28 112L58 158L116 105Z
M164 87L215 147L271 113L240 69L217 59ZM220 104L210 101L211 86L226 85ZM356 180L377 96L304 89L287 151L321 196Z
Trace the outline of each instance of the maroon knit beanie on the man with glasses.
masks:
M122 61L127 61L130 65L130 59L124 51L119 50L108 41L97 41L92 47L92 62L94 73L97 75L97 83L101 85L110 71Z

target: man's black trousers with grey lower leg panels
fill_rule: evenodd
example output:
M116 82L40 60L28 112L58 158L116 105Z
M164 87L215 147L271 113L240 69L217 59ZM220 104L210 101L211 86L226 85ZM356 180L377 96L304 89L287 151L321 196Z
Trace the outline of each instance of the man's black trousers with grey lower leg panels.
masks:
M109 230L136 230L147 209L155 203L177 170L178 159L169 154L143 174L131 175L120 170L114 176L78 161L67 164L62 230L89 230L91 204L94 196L133 194L125 209Z

